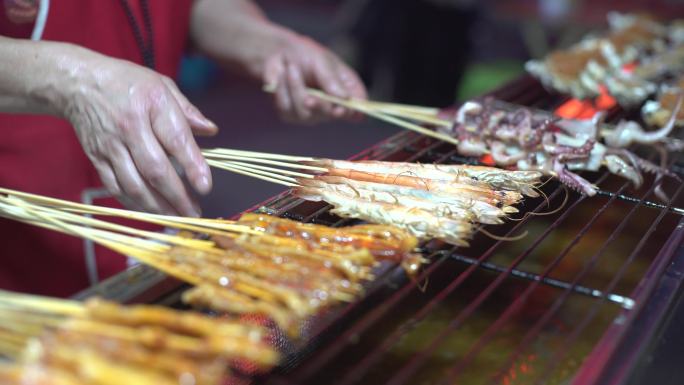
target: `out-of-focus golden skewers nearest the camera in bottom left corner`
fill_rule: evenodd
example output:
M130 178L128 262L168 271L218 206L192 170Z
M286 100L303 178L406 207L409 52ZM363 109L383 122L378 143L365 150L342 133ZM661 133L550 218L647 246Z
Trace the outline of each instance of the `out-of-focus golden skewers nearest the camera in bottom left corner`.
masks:
M278 363L268 333L160 306L0 292L0 383L223 384L246 361Z

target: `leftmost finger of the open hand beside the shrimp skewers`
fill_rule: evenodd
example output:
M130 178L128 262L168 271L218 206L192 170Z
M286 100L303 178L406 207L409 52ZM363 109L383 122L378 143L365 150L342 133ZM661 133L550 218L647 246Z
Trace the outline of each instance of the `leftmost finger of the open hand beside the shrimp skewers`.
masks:
M144 211L173 214L176 210L171 207L162 197L153 193L149 186L140 175L131 154L121 142L114 142L110 146L109 165L116 177L117 183L121 188L122 203L126 201L135 202Z

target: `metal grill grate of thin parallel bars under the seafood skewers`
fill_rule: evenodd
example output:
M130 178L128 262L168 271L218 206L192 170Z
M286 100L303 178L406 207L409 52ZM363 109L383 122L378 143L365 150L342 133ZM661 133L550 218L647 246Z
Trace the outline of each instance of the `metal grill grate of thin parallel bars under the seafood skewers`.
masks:
M533 81L521 78L515 83L493 93L497 99L527 105L529 107L553 110L562 100L544 92ZM620 111L611 111L610 120L624 117ZM436 163L476 163L473 159L460 157L453 146L432 141L427 138L404 132L381 143L373 149L367 150L355 157L356 159L383 159ZM678 171L676 167L672 168ZM591 178L591 175L588 176ZM597 197L585 198L572 196L567 206L557 215L546 218L543 229L510 244L503 241L492 241L478 236L469 249L458 250L439 242L424 245L424 251L433 262L423 271L415 281L404 281L399 287L389 290L386 295L378 295L383 291L383 285L396 285L395 270L387 270L379 277L379 285L374 286L368 293L370 299L350 304L336 316L323 323L312 337L314 343L308 349L297 355L296 359L287 365L280 373L263 379L265 383L300 384L300 383L555 383L567 382L581 365L581 360L591 351L621 309L634 308L636 301L629 294L645 273L648 264L644 260L644 251L648 247L659 244L659 240L652 239L655 229L662 227L674 229L683 211L672 205L664 205L654 201L653 185L646 183L647 188L641 191L630 191L630 186L619 178L607 172L591 178L601 187ZM670 186L672 187L672 186ZM555 183L549 183L545 189L549 202L558 204L562 201L564 190ZM676 186L673 202L678 202L681 185ZM636 194L636 195L634 195ZM679 202L678 202L679 203ZM540 213L548 211L547 203L530 201L526 204L527 212ZM349 223L330 215L326 204L303 203L292 197L277 199L267 205L267 211L284 215L302 221L323 223L339 226ZM572 225L579 213L588 212L581 225ZM613 219L605 238L589 240L597 232L597 226L606 222L605 217L618 215ZM651 218L651 221L643 221ZM540 221L540 216L524 216L519 222L504 226L505 236L518 234ZM639 218L641 226L633 229L633 221ZM665 225L664 225L665 224ZM664 225L664 226L663 226ZM574 231L576 228L576 231ZM492 228L496 229L496 228ZM491 229L490 229L491 230ZM573 230L573 231L570 231ZM540 245L549 243L549 239L558 233L572 233L566 235L565 245L552 247L548 252L548 262L537 268L530 268L534 258L539 257ZM638 242L630 252L615 255L615 245L624 241L625 236L637 234ZM669 234L669 232L667 233ZM578 249L587 256L583 264L571 272L555 273L565 264L569 256L577 257ZM548 245L545 246L548 249ZM502 254L513 255L512 249L522 249L513 258L502 258ZM626 249L625 249L626 250ZM609 255L610 254L610 255ZM648 254L648 253L645 253ZM655 253L653 253L655 254ZM597 266L605 260L619 260L619 264L609 270L607 284L595 277ZM634 268L635 260L639 260L641 269ZM505 263L504 263L505 262ZM649 261L650 262L650 261ZM445 270L451 270L450 277L441 279ZM638 272L632 270L639 270ZM485 273L486 272L486 273ZM567 274L566 274L567 273ZM630 273L636 275L627 284L623 278ZM448 275L448 274L447 274ZM420 286L425 280L428 291L421 293ZM436 282L435 282L436 281ZM470 281L476 281L472 284ZM512 281L515 281L512 283ZM461 291L472 290L467 286L480 287L472 298L463 301L458 311L452 312L446 322L440 327L425 333L425 340L413 344L411 350L411 333L425 328L425 323L435 319L435 313L441 312L451 298L458 296ZM516 296L504 298L502 289L516 287ZM499 334L506 334L513 319L530 309L530 303L539 301L540 293L553 294L553 300L548 299L535 322L522 330L510 352L502 359L490 359L489 349L496 348ZM498 293L498 294L497 294ZM375 297L381 298L375 298ZM408 308L402 308L416 297L418 301ZM422 297L422 298L420 298ZM505 296L504 296L505 297ZM494 306L487 302L496 302ZM368 305L371 302L372 305ZM581 306L573 303L578 302ZM618 306L612 306L618 305ZM556 331L549 337L546 332L553 322L557 321L558 313L565 307L572 307L571 316L577 317L577 323L567 330ZM579 309L576 309L577 307ZM491 308L497 311L490 320L480 325L473 320L479 312L489 312ZM359 310L363 308L363 310ZM539 308L539 307L537 307ZM355 311L356 310L356 311ZM537 309L540 310L540 309ZM353 320L345 320L350 314L356 314ZM398 316L401 314L401 316ZM388 318L397 316L399 321L388 322ZM343 326L334 328L337 323ZM473 325L476 323L477 325ZM550 326L551 325L551 326ZM598 326L597 326L598 325ZM429 326L429 325L428 325ZM592 329L592 338L581 338L587 328ZM383 330L379 332L379 330ZM467 332L464 330L479 329ZM327 339L317 341L321 334L328 334ZM450 342L455 334L461 334L464 347L454 349L451 356L442 359L444 362L435 364L435 357L442 357L448 351L443 346ZM506 337L508 338L508 337ZM363 343L362 340L369 340ZM530 347L535 344L549 342L544 350L551 359L541 360L538 354L531 355ZM406 341L404 341L406 340ZM560 343L558 343L560 341ZM555 343L555 345L554 345ZM583 345L576 348L576 345ZM410 354L402 351L409 347ZM581 354L575 350L581 350ZM447 352L448 353L448 352ZM397 358L397 355L402 355ZM567 356L572 356L572 362L567 364ZM496 361L496 364L492 364ZM473 370L473 367L488 366ZM464 373L472 372L472 373ZM532 373L534 372L534 373ZM334 378L335 381L330 381Z

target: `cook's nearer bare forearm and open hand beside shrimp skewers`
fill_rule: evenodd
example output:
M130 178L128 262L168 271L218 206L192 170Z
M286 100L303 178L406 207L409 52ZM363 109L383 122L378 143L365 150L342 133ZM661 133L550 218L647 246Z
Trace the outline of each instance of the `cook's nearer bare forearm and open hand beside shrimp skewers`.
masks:
M71 44L0 37L0 112L69 120L104 185L129 207L199 214L169 156L195 190L211 189L192 133L213 134L216 126L171 79L131 62Z

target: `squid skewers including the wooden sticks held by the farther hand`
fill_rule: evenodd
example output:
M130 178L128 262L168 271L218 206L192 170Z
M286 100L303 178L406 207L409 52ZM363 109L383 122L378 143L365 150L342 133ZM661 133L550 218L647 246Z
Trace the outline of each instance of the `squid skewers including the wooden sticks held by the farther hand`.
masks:
M667 201L667 195L660 183L665 176L676 178L665 167L667 154L684 149L684 141L669 137L677 117L684 110L684 94L677 95L662 127L647 130L634 121L621 121L615 126L603 124L602 112L590 120L565 119L545 111L491 98L469 101L457 111L450 111L345 100L314 89L309 89L308 92L322 100L455 144L461 155L487 157L488 161L497 166L519 170L518 172L537 171L557 178L566 186L589 196L596 194L597 187L576 174L576 171L597 171L606 167L611 173L630 180L637 188L643 183L643 172L654 174L656 194L661 200ZM435 129L428 128L429 126ZM629 151L628 147L633 144L657 150L661 156L659 164L642 159ZM207 154L211 156L212 152ZM220 155L217 152L213 154ZM419 166L421 169L427 167L456 170L462 166Z

